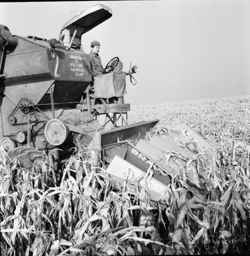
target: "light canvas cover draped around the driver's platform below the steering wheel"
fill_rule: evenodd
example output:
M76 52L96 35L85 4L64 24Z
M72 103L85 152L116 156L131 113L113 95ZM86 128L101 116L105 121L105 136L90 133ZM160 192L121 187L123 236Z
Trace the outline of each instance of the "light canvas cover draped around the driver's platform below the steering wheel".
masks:
M126 73L113 71L97 75L95 76L94 89L96 98L122 97L127 93Z

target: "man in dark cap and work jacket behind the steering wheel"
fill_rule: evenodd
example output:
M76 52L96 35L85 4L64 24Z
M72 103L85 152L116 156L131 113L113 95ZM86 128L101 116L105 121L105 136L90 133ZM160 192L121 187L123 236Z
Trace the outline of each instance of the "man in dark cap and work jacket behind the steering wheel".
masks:
M101 64L101 58L98 55L100 51L100 43L98 41L91 42L91 52L89 53L90 63L92 65L92 70L94 75L104 74L104 69Z

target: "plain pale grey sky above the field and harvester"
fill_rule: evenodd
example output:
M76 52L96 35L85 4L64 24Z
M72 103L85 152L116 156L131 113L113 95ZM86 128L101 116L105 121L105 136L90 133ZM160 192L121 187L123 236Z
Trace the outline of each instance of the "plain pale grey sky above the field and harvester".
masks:
M59 39L63 24L95 4L113 16L82 36L101 44L102 63L118 56L127 77L125 102L250 94L250 0L1 2L0 24L13 35Z

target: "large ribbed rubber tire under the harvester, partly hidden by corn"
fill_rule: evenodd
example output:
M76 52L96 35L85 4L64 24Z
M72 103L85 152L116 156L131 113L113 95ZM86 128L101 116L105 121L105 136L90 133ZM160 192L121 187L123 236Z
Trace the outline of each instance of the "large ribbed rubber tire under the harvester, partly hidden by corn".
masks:
M36 150L35 147L19 146L7 152L7 155L9 155L9 158L11 160L15 159L16 157L18 157L18 155L20 155L18 157L18 161L21 165L20 167L23 167L25 169L27 169L29 165L33 164L35 160L42 160L43 162L45 162L45 155L42 151ZM48 170L49 164L46 164L46 167Z

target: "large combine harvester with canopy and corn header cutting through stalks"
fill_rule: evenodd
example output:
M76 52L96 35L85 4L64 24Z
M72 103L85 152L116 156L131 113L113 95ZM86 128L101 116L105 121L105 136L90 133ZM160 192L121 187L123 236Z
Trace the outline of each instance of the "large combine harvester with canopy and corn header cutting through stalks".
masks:
M128 168L138 177L152 167L149 189L157 201L170 184L172 167L187 164L181 156L170 156L166 165L153 164L157 157L175 151L192 158L192 151L178 146L179 141L185 145L196 139L202 148L213 146L183 124L172 127L182 134L176 135L176 143L166 135L148 141L149 132L159 125L158 119L127 125L130 104L123 100L125 77L132 82L137 67L122 72L116 57L107 64L104 75L94 77L89 55L81 46L81 36L111 16L108 7L92 6L63 26L59 40L12 36L8 27L0 25L0 146L11 159L21 155L18 160L24 168L43 159L44 151L60 149L55 160L62 168L77 140L82 144L94 142L103 148L107 172L120 182ZM81 110L86 122L76 127L55 118L55 110L65 109ZM103 125L94 118L97 115L106 115ZM117 127L119 119L121 127ZM105 130L108 122L112 128ZM184 185L203 197L199 185L188 181ZM171 190L166 200L170 194Z

